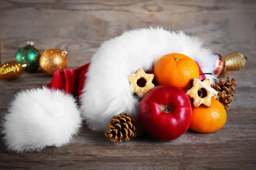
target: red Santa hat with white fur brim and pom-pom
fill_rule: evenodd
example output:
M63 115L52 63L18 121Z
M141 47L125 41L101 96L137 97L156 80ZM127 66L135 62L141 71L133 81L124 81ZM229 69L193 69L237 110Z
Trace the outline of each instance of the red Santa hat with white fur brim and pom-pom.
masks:
M3 122L8 150L60 147L79 132L82 120L92 130L104 131L119 113L137 119L140 99L131 95L128 75L139 68L151 71L157 59L170 53L191 57L204 73L215 70L217 56L183 31L143 28L124 32L104 42L90 64L57 71L47 86L24 89L14 96ZM214 75L206 78L212 83L216 79Z

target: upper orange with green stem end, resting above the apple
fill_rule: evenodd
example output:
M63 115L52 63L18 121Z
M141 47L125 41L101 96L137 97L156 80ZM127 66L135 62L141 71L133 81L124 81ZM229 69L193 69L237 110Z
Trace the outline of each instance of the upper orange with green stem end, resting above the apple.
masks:
M199 68L190 57L172 53L157 60L154 75L160 85L171 85L186 90L190 88L190 80L199 78Z

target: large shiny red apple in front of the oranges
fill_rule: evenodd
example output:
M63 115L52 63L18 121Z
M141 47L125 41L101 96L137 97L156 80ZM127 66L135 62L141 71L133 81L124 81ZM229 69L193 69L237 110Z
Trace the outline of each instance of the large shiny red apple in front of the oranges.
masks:
M158 85L141 100L139 119L153 139L177 139L188 130L191 123L190 99L181 88Z

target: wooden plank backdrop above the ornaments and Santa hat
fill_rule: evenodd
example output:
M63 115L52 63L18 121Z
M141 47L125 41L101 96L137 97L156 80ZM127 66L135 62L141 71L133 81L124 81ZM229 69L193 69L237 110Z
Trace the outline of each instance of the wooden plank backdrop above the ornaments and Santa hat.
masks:
M163 26L196 35L214 51L256 56L255 0L2 0L2 62L27 40L44 51L69 46L69 67L86 64L100 43L128 29ZM256 60L252 60L255 64Z

